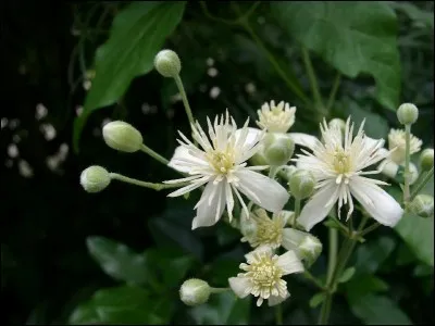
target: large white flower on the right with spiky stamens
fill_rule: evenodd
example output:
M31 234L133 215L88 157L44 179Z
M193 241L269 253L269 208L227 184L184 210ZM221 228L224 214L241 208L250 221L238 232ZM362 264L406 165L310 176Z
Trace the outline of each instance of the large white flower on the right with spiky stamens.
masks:
M347 218L353 211L352 196L362 204L366 212L378 223L395 226L403 210L397 201L377 185L384 181L366 178L363 175L377 174L378 171L362 170L384 160L389 152L381 151L384 140L368 140L361 124L353 138L353 124L346 122L343 137L337 127L330 128L326 122L321 125L323 142L318 141L313 154L303 151L298 155L298 167L309 170L318 180L316 192L303 206L298 222L310 230L323 221L338 201L338 214L343 204L349 204Z

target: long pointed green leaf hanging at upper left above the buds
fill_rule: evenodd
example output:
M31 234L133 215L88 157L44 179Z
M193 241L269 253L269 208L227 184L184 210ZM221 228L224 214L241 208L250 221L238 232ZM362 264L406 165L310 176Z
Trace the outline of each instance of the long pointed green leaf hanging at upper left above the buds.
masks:
M115 103L133 78L151 71L153 59L182 20L185 1L133 2L113 21L110 37L96 53L96 77L83 113L74 122L78 150L82 129L96 109Z

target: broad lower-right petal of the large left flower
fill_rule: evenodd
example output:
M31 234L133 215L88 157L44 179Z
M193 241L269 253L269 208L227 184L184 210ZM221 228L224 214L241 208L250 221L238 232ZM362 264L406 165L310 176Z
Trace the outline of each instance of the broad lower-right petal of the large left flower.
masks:
M290 196L277 181L247 168L237 171L238 189L259 206L277 213L287 203Z

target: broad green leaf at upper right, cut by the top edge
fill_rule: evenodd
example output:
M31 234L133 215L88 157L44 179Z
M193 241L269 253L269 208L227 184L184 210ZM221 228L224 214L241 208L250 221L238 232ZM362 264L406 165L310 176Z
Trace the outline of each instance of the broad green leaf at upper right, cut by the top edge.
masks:
M290 36L344 75L370 74L381 104L396 110L400 93L397 18L382 1L274 1L272 13Z

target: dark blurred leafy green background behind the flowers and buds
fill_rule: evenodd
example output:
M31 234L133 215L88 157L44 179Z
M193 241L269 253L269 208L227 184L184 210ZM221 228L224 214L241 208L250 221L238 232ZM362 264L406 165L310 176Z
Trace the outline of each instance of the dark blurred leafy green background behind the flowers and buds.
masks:
M108 148L101 127L136 126L170 158L188 130L175 84L152 70L170 48L196 117L228 108L238 123L264 101L298 108L294 131L316 135L326 116L399 127L433 148L434 2L2 2L7 101L1 115L1 297L8 324L271 324L273 311L215 294L187 308L186 277L225 286L248 250L225 224L191 231L194 202L112 183L86 193L92 164L149 181L175 177L144 154ZM312 92L316 75L321 97ZM334 90L335 89L335 90ZM332 91L333 90L333 91ZM330 93L336 93L331 99ZM397 184L389 191L399 195ZM433 183L426 189L433 195ZM335 324L434 323L433 216L406 216L361 244L334 302ZM325 228L314 229L325 241ZM312 272L325 273L325 250ZM353 273L355 272L355 273ZM287 324L315 323L315 289L288 283ZM314 296L314 297L313 297ZM7 310L4 310L8 306ZM314 308L315 306L315 308Z

